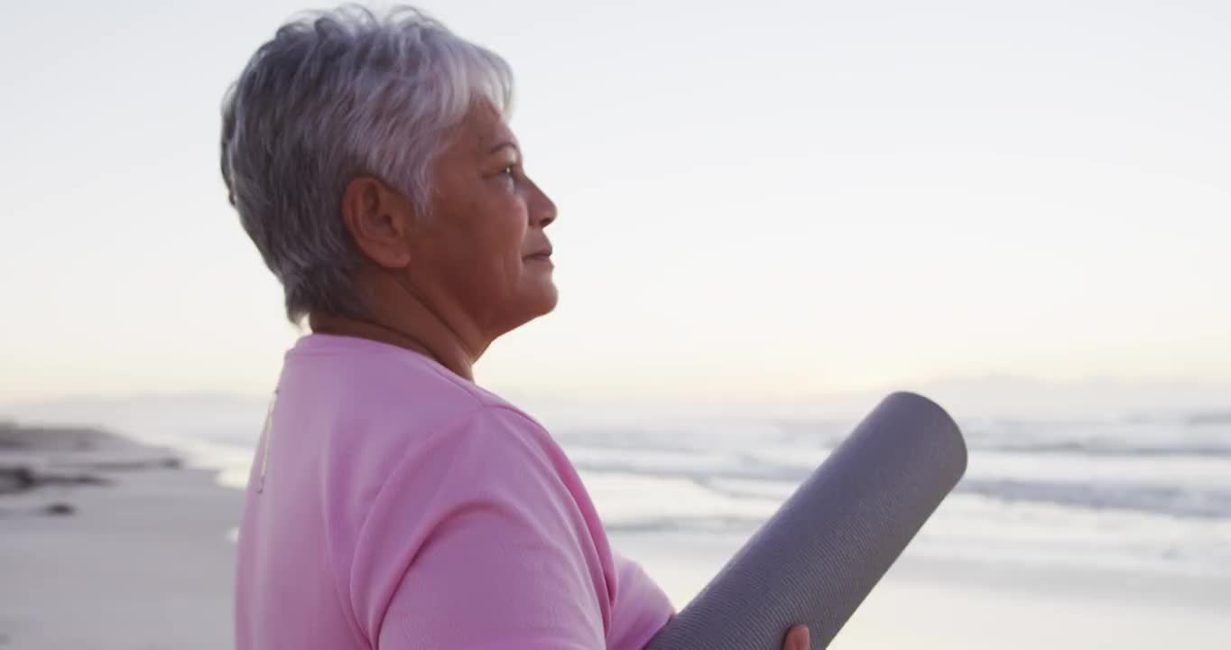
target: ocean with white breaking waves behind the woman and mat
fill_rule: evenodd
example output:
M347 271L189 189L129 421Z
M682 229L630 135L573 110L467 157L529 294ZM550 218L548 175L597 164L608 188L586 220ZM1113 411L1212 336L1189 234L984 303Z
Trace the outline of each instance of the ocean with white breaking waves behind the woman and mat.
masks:
M22 421L101 425L174 447L241 487L265 405L142 399L47 405ZM620 534L746 537L857 419L540 417ZM960 419L966 476L905 556L1105 568L1231 586L1231 412Z

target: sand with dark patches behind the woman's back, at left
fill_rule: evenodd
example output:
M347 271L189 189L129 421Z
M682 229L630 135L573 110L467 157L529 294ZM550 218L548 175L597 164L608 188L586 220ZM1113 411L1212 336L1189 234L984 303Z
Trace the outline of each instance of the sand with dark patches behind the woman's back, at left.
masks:
M238 490L92 430L0 428L17 467L41 484L0 492L0 648L231 646Z

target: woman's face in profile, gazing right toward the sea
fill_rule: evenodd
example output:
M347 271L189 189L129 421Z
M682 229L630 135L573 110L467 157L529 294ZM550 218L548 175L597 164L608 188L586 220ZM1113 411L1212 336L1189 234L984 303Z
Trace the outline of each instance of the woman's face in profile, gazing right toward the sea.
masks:
M453 130L432 183L410 281L491 337L551 311L556 288L543 229L555 204L526 176L517 138L495 110L479 105Z

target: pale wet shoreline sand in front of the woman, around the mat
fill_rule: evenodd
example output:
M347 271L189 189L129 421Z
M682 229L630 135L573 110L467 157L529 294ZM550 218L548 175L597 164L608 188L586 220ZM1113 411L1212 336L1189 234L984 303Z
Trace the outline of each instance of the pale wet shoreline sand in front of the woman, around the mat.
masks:
M614 534L683 604L744 536ZM688 549L688 552L682 552ZM904 556L832 648L1231 648L1231 581Z

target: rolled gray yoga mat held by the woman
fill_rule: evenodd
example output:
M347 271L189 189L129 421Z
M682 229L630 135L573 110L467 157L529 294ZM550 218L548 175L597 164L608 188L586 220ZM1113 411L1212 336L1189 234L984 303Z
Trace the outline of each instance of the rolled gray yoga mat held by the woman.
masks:
M965 470L940 406L889 395L648 648L780 650L796 624L828 646Z

